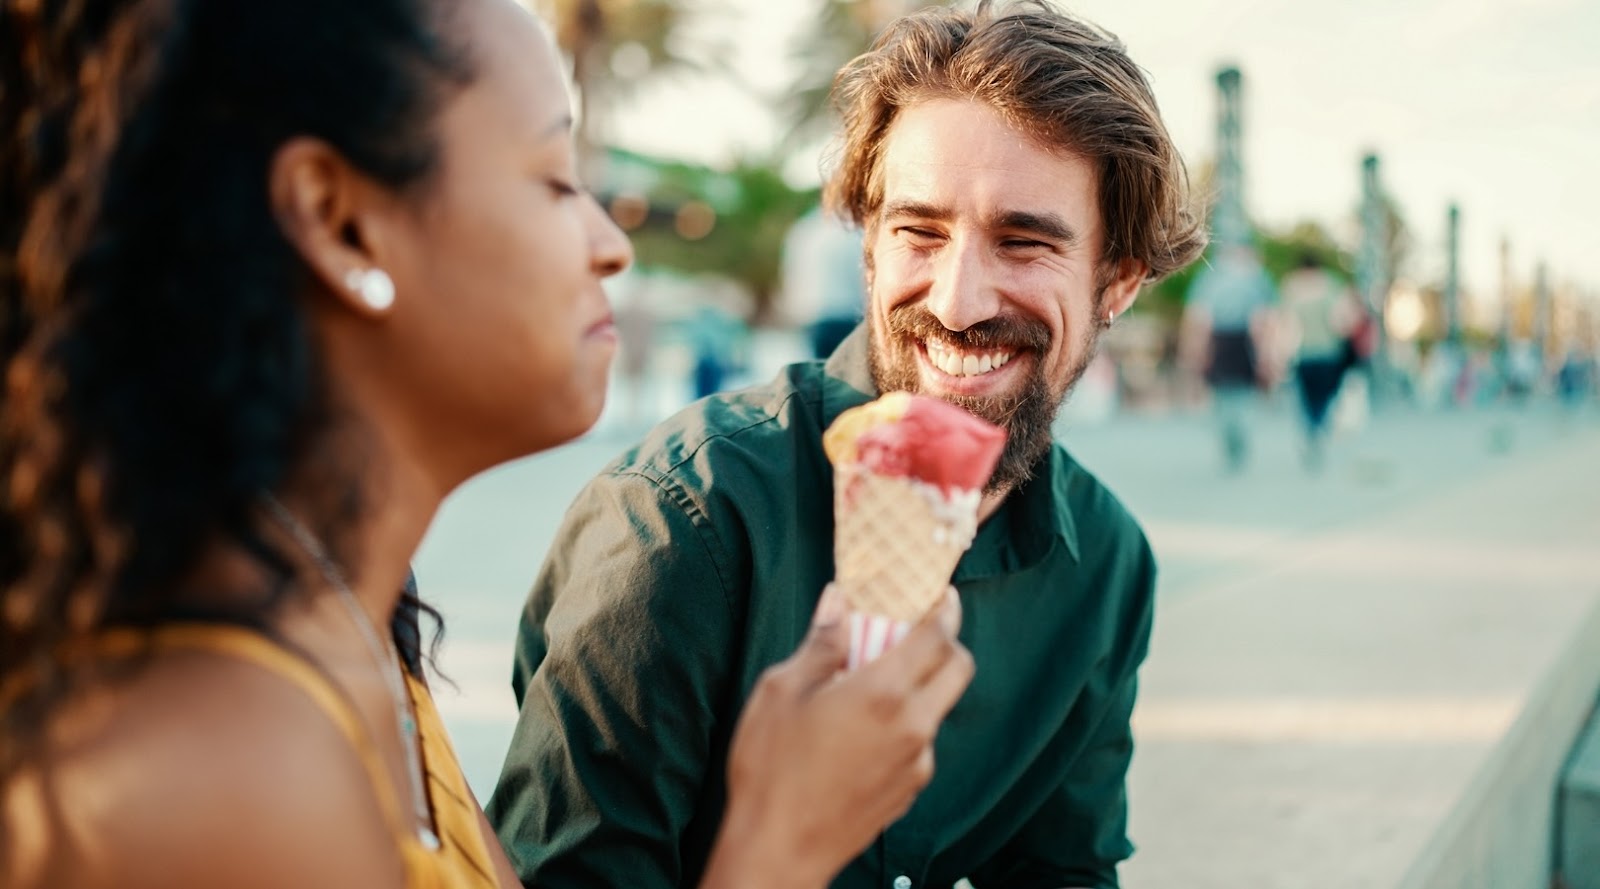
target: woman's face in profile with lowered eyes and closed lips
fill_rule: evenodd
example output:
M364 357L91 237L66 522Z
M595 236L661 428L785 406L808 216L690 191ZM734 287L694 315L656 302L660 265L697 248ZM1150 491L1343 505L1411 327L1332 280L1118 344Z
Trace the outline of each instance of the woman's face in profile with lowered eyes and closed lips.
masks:
M616 331L602 278L632 248L576 179L571 112L544 27L510 0L454 14L475 80L435 123L438 168L379 229L395 281L386 395L413 438L470 475L584 433Z

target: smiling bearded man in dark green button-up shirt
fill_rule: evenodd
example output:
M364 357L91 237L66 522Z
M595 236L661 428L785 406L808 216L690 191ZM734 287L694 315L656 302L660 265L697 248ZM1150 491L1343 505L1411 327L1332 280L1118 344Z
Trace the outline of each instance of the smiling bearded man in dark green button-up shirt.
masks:
M976 678L933 782L835 886L1117 886L1131 852L1155 566L1050 429L1101 331L1203 248L1181 160L1120 43L1045 6L914 13L835 90L827 195L866 232L866 323L826 365L667 421L570 510L490 803L530 886L696 883L739 705L834 574L822 430L901 389L1010 441L954 577Z

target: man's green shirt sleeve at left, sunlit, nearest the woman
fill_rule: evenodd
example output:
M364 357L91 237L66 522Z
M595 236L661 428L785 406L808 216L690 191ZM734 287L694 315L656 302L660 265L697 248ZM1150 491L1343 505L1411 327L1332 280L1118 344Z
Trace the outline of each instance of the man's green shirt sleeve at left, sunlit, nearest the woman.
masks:
M728 566L661 480L603 475L568 512L518 627L488 806L526 886L669 887L701 867L683 835L728 732Z

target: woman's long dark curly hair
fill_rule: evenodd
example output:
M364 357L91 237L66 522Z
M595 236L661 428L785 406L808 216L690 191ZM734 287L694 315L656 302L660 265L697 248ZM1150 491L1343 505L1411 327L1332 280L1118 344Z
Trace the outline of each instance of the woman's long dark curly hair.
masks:
M446 8L0 0L0 783L82 683L59 652L194 617L174 590L206 545L278 579L211 617L293 582L258 504L331 411L267 171L314 136L422 184L472 77Z

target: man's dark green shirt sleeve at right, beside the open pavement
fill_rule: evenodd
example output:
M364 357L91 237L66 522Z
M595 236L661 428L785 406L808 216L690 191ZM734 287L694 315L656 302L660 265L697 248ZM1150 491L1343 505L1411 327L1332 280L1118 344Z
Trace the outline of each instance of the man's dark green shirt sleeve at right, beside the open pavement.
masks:
M971 875L976 889L1117 889L1128 841L1128 764L1133 761L1133 704L1138 668L1149 651L1155 604L1155 560L1139 537L1131 574L1125 646L1090 680L1086 694L1104 702L1082 756L1038 812L989 863Z

